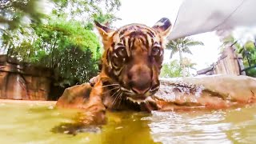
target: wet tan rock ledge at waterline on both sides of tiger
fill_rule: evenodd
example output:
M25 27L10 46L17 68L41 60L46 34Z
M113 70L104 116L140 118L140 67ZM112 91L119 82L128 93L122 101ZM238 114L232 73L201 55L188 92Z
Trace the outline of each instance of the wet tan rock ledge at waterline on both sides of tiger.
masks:
M89 98L89 83L65 90L58 107L82 108ZM154 96L159 110L222 109L256 101L256 79L236 75L162 79Z

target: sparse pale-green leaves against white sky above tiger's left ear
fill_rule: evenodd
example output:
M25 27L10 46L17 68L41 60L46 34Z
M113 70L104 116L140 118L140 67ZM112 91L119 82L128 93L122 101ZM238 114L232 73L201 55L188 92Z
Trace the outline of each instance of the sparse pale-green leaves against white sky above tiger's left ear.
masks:
M54 2L57 4L53 10L54 15L84 22L88 30L93 29L94 20L101 23L117 20L114 11L121 6L120 0L54 0Z

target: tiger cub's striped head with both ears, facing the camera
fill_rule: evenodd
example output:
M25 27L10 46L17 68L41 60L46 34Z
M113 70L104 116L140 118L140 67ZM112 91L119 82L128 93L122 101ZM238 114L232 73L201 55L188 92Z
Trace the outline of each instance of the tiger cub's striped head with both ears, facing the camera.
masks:
M118 30L95 24L105 48L102 71L113 78L127 99L146 101L159 89L164 41L171 27L169 19L162 18L153 27L130 24Z

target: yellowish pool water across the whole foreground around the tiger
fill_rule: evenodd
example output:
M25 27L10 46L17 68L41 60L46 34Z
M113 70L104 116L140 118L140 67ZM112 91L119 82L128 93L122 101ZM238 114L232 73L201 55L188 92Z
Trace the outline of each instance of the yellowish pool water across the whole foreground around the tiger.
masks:
M108 112L80 126L54 104L0 102L0 143L256 143L256 106L229 110Z

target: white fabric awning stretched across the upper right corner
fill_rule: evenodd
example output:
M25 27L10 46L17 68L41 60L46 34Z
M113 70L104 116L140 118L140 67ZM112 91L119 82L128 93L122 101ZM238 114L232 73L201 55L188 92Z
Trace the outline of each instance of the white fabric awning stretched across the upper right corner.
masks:
M168 39L256 26L256 0L185 0Z

